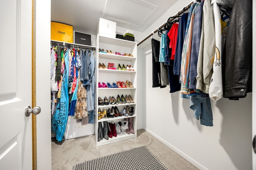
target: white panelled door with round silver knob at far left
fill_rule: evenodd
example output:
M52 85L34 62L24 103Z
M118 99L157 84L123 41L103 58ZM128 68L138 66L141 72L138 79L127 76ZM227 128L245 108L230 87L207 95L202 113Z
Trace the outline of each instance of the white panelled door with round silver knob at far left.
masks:
M0 169L32 170L32 0L0 6Z

